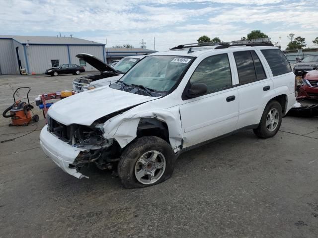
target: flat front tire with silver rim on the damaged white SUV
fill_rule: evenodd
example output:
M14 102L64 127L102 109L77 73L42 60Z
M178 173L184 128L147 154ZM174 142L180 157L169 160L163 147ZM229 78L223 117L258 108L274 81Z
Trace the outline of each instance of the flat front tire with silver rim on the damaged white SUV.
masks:
M152 186L171 177L175 159L165 140L157 136L137 138L122 153L118 176L126 188Z

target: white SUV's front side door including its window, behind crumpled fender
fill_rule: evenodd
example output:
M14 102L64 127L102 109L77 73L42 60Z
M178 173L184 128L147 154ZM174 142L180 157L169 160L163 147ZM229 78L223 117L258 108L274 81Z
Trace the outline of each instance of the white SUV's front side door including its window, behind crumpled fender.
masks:
M205 83L208 91L196 98L183 98L180 116L184 147L236 129L239 119L239 94L232 81L233 71L228 54L207 57L195 69L188 85Z

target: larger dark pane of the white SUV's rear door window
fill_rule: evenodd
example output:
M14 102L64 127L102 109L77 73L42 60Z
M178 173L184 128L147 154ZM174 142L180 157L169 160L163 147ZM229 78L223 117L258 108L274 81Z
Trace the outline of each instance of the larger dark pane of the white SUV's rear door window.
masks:
M254 63L250 51L239 51L233 54L238 68L239 83L245 84L256 81Z

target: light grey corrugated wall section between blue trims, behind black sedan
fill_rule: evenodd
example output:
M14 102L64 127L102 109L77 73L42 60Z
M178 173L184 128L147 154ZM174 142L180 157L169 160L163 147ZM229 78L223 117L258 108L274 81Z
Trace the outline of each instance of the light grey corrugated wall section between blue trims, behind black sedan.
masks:
M44 73L51 68L51 60L59 60L60 64L69 63L67 46L30 45L25 49L31 73Z

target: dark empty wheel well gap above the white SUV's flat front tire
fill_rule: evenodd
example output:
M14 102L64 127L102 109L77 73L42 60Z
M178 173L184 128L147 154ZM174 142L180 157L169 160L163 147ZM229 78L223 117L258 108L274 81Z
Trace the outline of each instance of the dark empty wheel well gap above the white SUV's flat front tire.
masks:
M149 135L158 136L170 144L168 126L165 122L155 118L142 118L137 127L137 138Z

